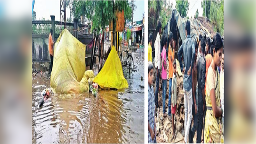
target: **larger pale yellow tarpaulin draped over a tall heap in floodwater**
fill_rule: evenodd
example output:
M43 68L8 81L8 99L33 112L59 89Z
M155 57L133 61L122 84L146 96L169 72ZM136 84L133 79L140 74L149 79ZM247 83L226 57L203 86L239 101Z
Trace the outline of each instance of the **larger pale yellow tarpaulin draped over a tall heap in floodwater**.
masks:
M85 45L64 29L55 43L51 88L55 93L89 91L93 71L85 72Z

